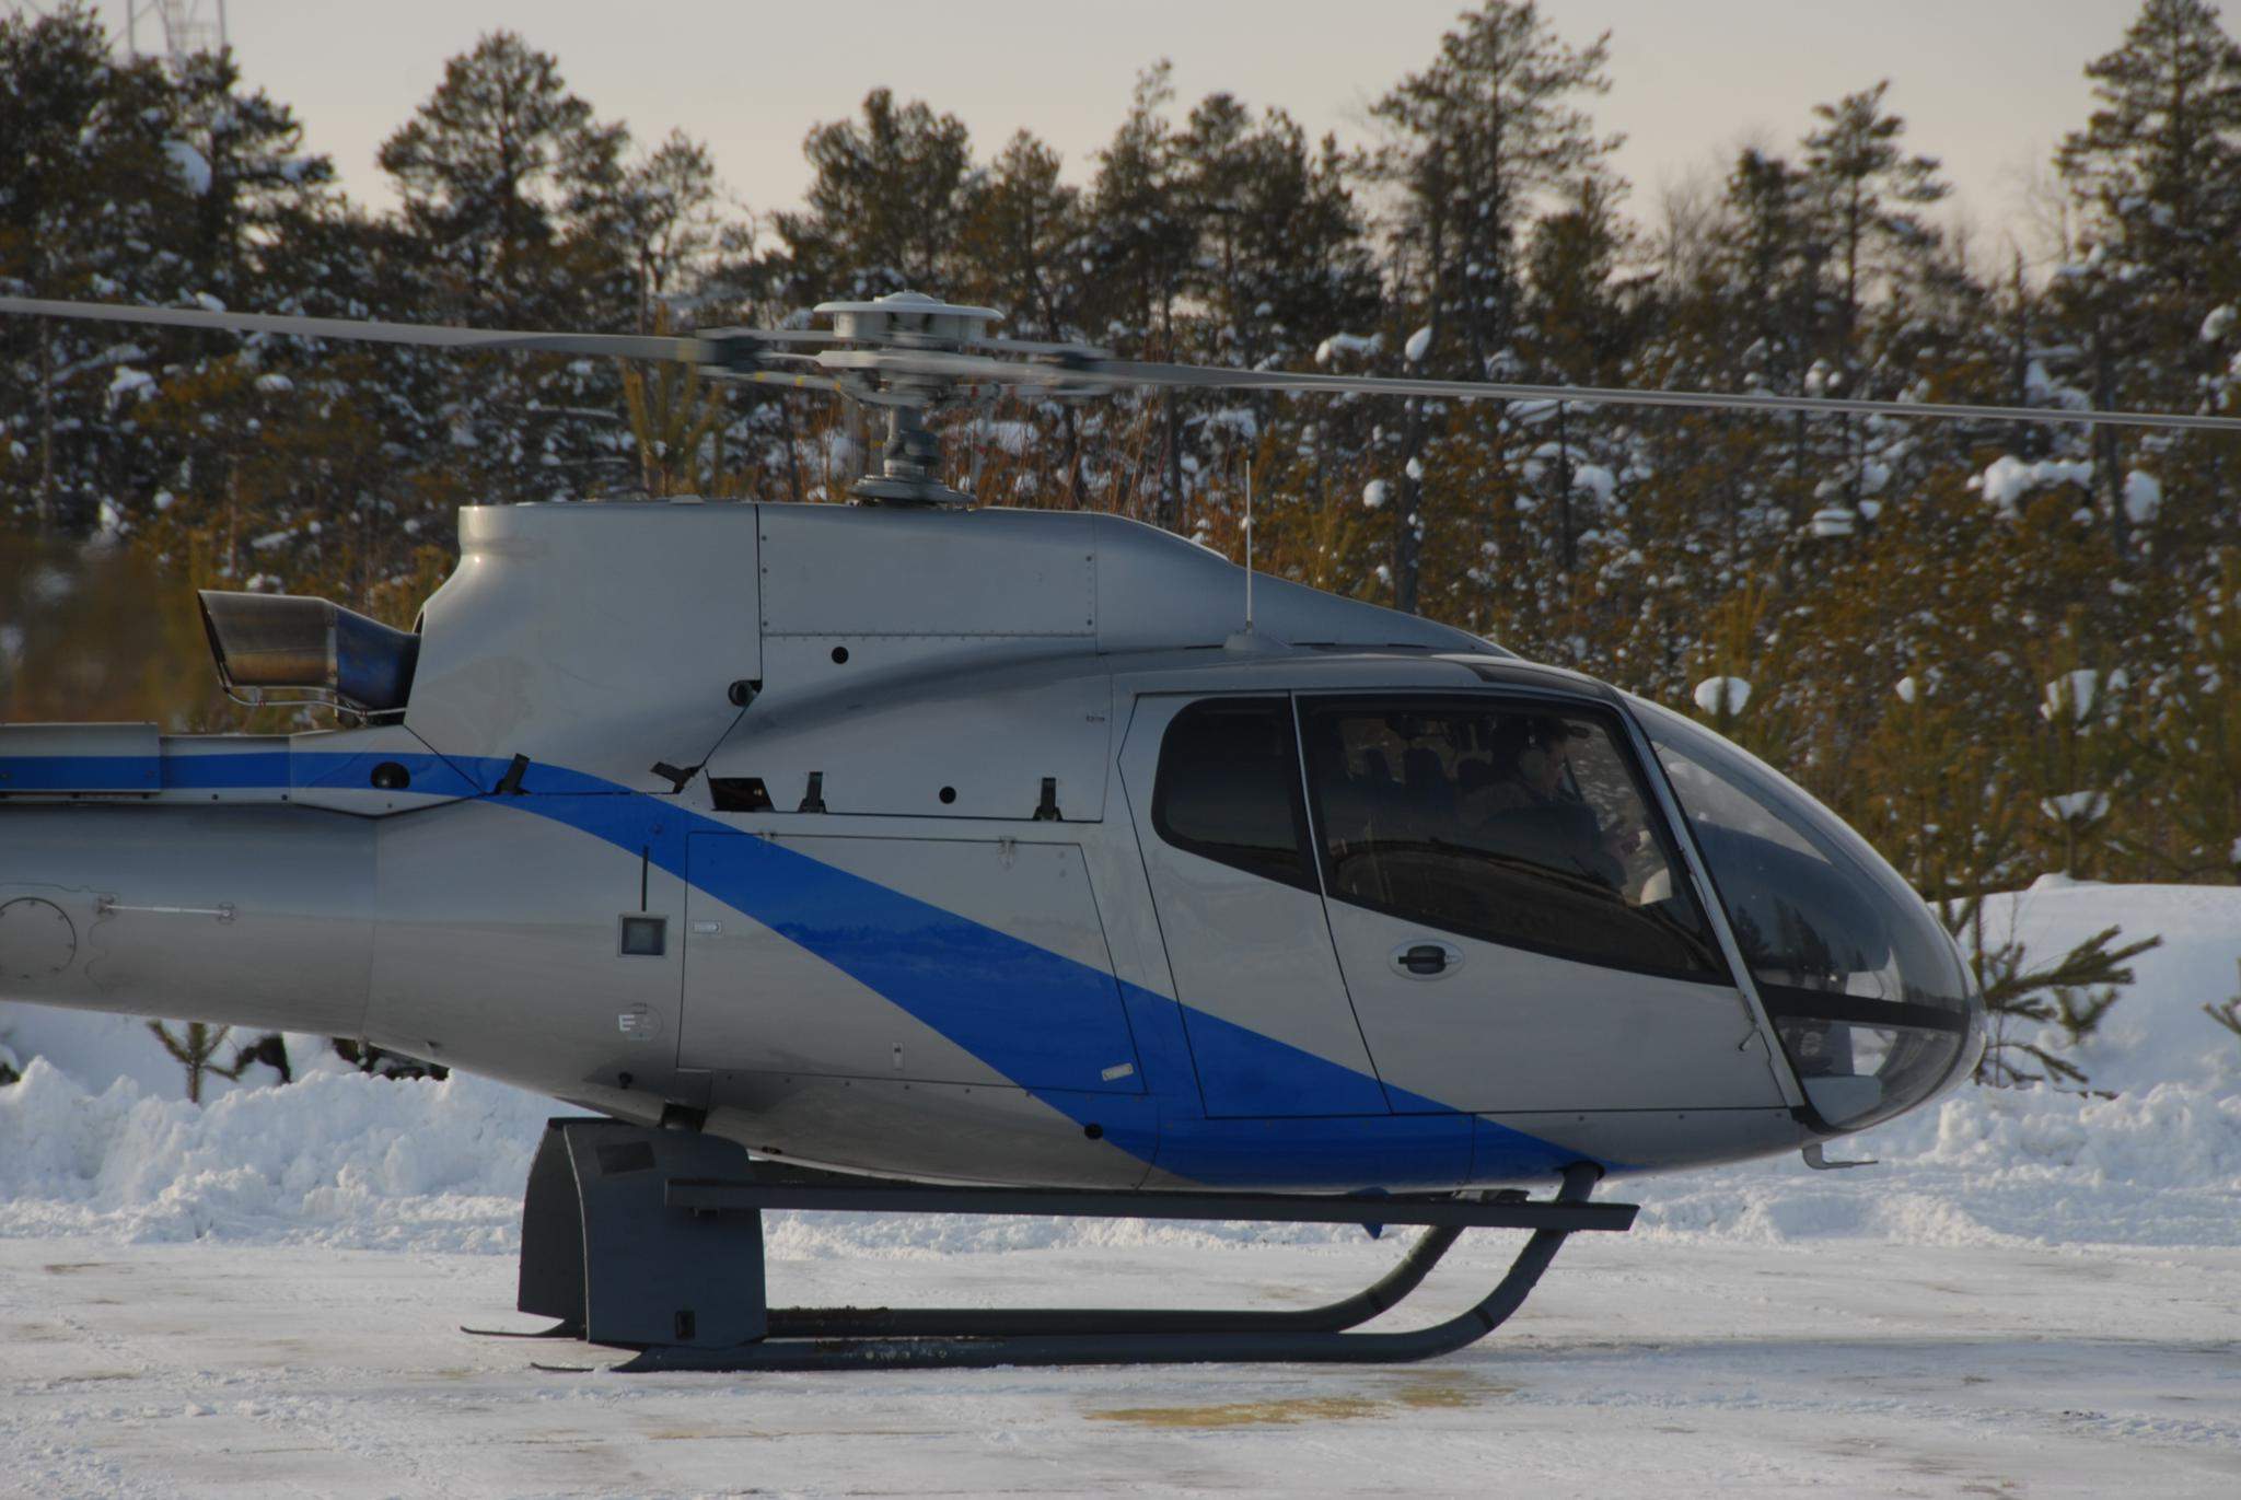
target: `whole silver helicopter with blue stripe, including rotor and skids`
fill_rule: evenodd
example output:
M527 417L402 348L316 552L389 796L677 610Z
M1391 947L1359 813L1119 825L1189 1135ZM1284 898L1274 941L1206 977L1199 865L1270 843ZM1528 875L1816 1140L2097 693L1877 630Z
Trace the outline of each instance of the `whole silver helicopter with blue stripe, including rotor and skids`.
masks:
M760 1226L724 1251L755 1285L710 1316L728 1294L692 1226L805 1204L1428 1224L1333 1305L1356 1321L1461 1226L1535 1229L1495 1303L1571 1229L1625 1226L1593 1182L1851 1166L1826 1143L1983 1047L1954 939L1770 765L1127 518L975 507L928 413L1152 386L2241 430L1123 361L923 294L690 336L0 312L679 361L885 415L854 504L468 504L412 630L202 592L229 693L347 726L0 726L0 996L363 1038L589 1110L531 1170L520 1305L697 1368L1439 1352L1266 1312L789 1314L762 1303ZM666 1186L603 1197L625 1157ZM1553 1204L1517 1202L1551 1177ZM701 1312L614 1312L623 1265Z

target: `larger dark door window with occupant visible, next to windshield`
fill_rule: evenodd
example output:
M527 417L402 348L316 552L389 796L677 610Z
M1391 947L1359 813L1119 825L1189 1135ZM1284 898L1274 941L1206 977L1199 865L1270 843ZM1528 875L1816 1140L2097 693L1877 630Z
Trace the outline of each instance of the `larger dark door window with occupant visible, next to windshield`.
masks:
M1728 978L1614 720L1463 700L1302 709L1331 899L1616 969Z

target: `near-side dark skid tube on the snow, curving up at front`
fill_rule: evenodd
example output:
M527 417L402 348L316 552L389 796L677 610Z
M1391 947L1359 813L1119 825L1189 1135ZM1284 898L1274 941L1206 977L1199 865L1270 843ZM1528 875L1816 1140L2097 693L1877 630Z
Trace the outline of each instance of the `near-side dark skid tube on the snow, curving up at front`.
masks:
M1587 1161L1573 1164L1564 1168L1564 1186L1557 1188L1553 1204L1515 1206L1582 1206L1600 1175L1602 1170ZM1486 1206L1493 1209L1495 1204ZM1434 1235L1436 1233L1439 1231L1434 1231ZM997 1339L778 1339L733 1348L652 1345L636 1359L616 1365L616 1370L923 1370L1233 1361L1403 1363L1450 1354L1499 1327L1513 1312L1517 1312L1517 1307L1526 1300L1526 1294L1533 1291L1535 1283L1540 1283L1542 1271L1549 1269L1549 1262L1555 1258L1555 1251L1564 1244L1569 1233L1573 1231L1535 1229L1533 1238L1526 1240L1522 1251L1517 1251L1517 1260L1510 1262L1508 1274L1475 1307L1448 1318L1445 1323L1401 1334L1349 1334L1262 1325L1208 1332L1170 1332L1156 1327L1138 1332L1033 1332ZM1430 1262L1425 1269L1430 1269Z

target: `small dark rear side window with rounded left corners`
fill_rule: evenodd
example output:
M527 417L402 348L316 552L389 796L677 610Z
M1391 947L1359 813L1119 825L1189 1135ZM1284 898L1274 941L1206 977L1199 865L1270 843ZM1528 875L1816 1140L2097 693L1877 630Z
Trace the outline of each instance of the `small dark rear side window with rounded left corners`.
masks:
M1152 827L1179 850L1315 890L1291 700L1190 704L1159 747Z

